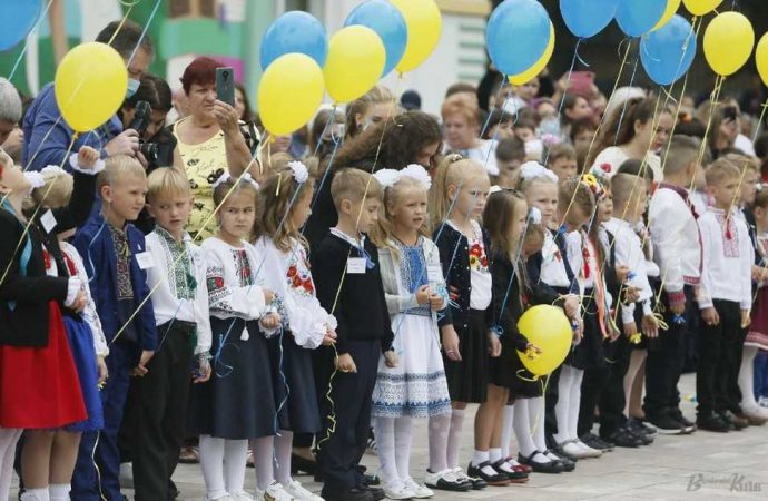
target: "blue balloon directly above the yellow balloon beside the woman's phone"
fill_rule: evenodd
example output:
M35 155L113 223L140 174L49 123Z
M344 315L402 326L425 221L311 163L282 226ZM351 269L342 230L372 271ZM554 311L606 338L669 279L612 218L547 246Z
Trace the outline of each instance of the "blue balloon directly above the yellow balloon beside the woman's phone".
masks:
M312 14L292 10L275 19L262 38L262 70L291 52L309 56L322 68L328 56L325 27Z

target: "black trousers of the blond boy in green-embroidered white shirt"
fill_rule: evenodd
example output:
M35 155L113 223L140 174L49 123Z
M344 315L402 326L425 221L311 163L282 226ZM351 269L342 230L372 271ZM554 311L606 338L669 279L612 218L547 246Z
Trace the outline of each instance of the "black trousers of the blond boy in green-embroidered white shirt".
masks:
M163 340L142 377L134 377L131 453L137 501L174 499L170 478L184 443L191 385L195 325L171 321L157 327Z

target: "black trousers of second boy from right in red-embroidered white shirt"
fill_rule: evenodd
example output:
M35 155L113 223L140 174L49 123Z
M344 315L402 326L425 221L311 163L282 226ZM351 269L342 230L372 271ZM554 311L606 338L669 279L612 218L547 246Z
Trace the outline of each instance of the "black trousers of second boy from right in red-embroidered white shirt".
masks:
M680 407L678 382L682 372L686 338L696 332L699 312L693 297L693 287L686 285L685 323L673 321L667 294L661 295L664 307L664 322L669 330L659 331L659 337L648 341L646 358L646 400L643 411L649 418L663 415Z

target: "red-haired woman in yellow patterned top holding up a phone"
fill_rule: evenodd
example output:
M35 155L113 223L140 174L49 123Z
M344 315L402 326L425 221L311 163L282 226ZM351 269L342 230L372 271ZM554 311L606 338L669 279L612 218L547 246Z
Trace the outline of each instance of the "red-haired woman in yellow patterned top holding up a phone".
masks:
M174 167L189 178L195 197L187 230L199 238L211 236L216 228L211 185L224 170L233 177L239 177L245 170L254 178L260 176L258 155L252 157L237 110L219 99L216 70L220 67L206 57L187 66L181 86L188 99L189 116L171 126L177 139ZM228 78L232 81L233 75ZM254 144L258 143L255 130L250 137Z

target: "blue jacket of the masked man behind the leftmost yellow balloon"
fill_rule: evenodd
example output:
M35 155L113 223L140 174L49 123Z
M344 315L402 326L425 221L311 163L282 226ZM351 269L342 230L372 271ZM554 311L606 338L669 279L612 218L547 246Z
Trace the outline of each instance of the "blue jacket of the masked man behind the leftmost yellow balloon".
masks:
M60 165L71 170L69 161L65 160L75 131L61 117L59 105L56 104L53 84L43 87L29 106L22 121L22 129L24 144L21 163L28 166L28 169L40 170L48 165ZM104 158L107 156L104 147L120 132L122 132L122 122L116 115L98 129L80 135L71 153L77 153L81 146L90 146L99 150ZM31 163L30 159L32 159Z

